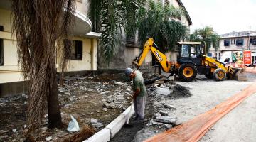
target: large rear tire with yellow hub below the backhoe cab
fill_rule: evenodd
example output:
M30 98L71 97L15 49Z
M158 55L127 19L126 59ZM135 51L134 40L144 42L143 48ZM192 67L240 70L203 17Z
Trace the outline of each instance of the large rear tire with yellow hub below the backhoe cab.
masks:
M191 82L196 78L197 70L196 66L190 63L185 63L181 65L178 69L178 76L183 82Z

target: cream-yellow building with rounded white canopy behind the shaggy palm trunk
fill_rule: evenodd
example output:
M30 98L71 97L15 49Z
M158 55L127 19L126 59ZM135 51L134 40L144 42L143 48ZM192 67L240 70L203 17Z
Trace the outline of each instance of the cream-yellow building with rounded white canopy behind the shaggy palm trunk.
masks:
M87 18L88 1L75 1L73 49L67 72L97 70L97 43L99 33L91 32L92 22ZM26 91L18 65L15 33L11 33L11 0L0 1L0 97ZM56 55L58 67L58 53ZM60 68L57 68L60 72Z

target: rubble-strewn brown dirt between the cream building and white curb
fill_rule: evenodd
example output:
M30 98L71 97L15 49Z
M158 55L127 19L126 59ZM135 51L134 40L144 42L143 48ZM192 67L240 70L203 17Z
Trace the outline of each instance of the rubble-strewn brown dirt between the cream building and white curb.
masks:
M114 77L115 80L112 80ZM64 127L68 126L70 114L82 126L90 125L97 131L122 114L131 104L132 89L117 75L97 75L96 77L65 77L58 84L58 98ZM0 98L0 141L24 141L22 133L26 126L28 94ZM46 111L47 113L47 111ZM48 130L48 114L43 119L42 138L37 140L54 141L68 134L63 129Z

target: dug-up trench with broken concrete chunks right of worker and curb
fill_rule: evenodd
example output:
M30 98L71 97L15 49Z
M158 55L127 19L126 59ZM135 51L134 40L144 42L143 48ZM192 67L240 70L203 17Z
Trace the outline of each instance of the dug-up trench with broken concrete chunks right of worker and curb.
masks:
M111 142L139 142L147 138L166 131L177 126L176 118L169 116L166 112L175 110L171 104L159 105L159 100L163 99L181 99L183 97L191 97L191 92L188 87L183 87L175 82L166 82L164 84L149 84L146 85L147 97L145 108L145 120L136 121L130 119L129 126L124 125L119 133L112 138ZM157 105L155 105L157 104Z

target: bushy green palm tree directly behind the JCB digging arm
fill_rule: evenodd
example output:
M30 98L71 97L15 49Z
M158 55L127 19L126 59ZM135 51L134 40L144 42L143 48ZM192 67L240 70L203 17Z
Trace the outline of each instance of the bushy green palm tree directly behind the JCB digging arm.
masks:
M141 7L137 18L139 41L143 44L147 38L154 38L156 45L163 51L173 50L176 42L185 39L188 28L176 19L181 19L183 9L163 6L149 1L148 8Z

